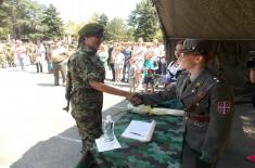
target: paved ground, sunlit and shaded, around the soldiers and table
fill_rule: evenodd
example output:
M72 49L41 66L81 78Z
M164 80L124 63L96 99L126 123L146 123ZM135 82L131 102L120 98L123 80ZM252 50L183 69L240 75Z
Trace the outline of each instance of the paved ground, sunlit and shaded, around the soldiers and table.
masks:
M35 72L35 66L0 69L0 168L72 168L81 142L71 114L62 111L64 87L54 87L51 74ZM127 83L106 83L128 90ZM104 93L103 117L112 114L117 120L126 104ZM230 145L218 167L254 168L245 160L250 154L255 154L255 108L238 104Z

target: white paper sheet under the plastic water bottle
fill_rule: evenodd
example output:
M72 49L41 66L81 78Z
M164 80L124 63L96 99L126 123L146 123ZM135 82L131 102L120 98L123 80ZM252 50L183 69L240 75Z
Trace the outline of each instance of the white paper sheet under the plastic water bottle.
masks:
M95 144L97 144L99 152L111 151L111 150L122 147L116 137L114 137L113 141L109 141L109 142L104 141L104 137L101 137L99 139L95 139Z

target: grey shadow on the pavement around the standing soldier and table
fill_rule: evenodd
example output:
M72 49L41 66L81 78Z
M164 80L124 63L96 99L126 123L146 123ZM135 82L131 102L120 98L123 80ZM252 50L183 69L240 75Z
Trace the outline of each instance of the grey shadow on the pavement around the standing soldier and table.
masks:
M117 120L126 108L126 101L122 101L103 111L103 118L107 114ZM76 126L64 132L40 141L31 146L11 168L73 168L80 158L81 141Z

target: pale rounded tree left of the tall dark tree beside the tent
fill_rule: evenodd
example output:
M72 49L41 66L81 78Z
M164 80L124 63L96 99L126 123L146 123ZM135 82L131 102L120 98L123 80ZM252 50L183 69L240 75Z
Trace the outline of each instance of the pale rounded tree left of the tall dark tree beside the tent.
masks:
M105 27L105 40L127 41L129 40L127 26L123 18L115 17Z

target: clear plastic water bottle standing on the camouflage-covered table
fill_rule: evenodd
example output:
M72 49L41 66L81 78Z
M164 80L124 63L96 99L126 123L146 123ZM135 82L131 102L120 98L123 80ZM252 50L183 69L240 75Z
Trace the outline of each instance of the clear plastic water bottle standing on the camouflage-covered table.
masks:
M111 115L106 116L104 121L104 141L110 142L114 140L114 121Z

